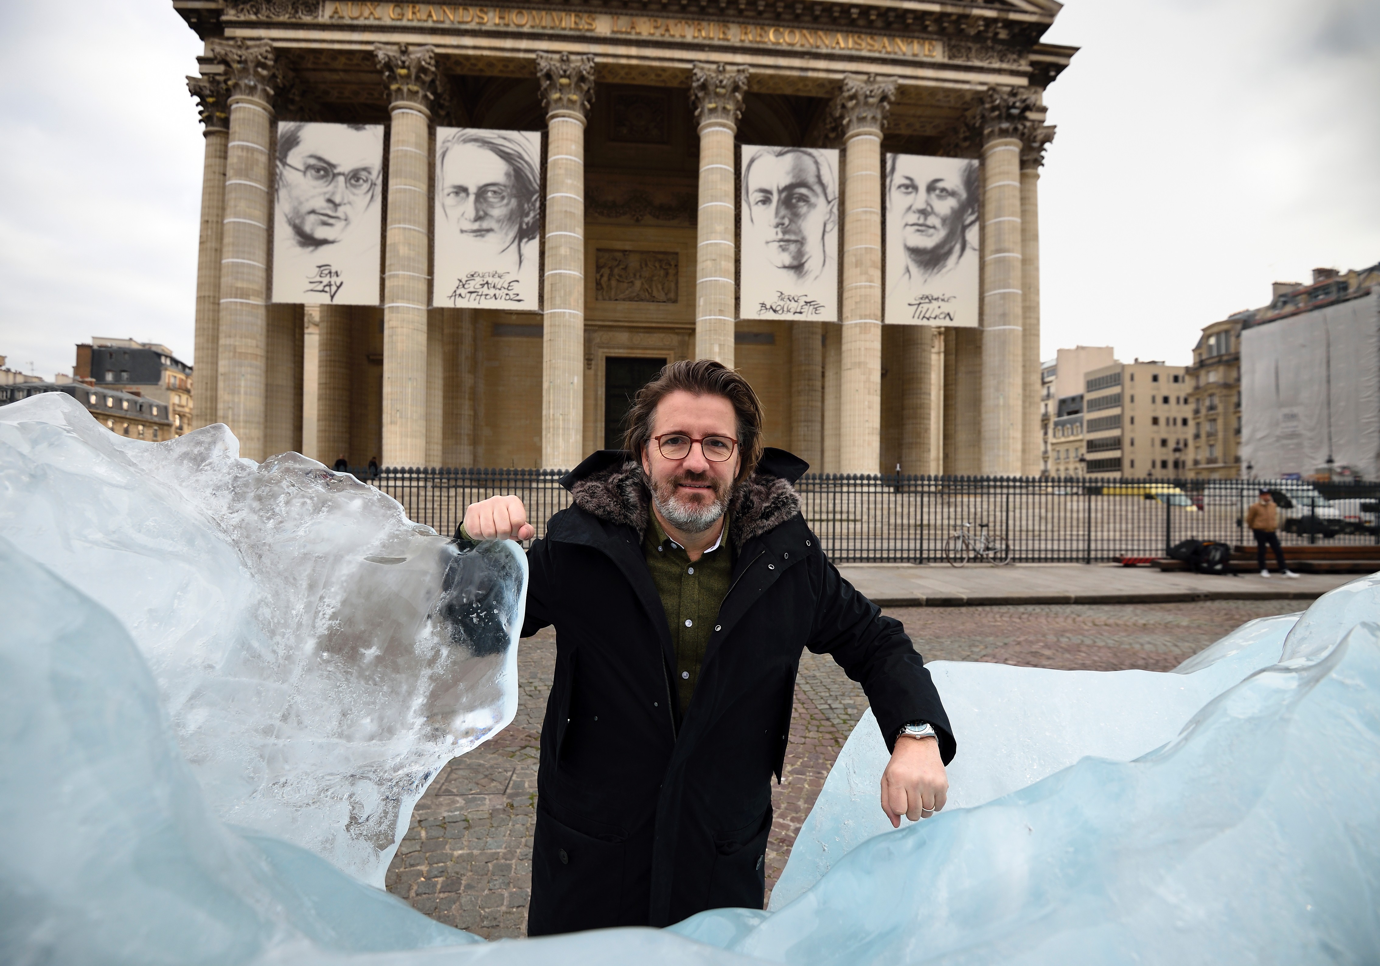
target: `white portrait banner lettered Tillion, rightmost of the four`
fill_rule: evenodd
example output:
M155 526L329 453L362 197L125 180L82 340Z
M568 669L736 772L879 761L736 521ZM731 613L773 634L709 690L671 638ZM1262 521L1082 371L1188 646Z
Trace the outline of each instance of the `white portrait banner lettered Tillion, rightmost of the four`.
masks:
M886 156L887 323L977 326L978 163Z

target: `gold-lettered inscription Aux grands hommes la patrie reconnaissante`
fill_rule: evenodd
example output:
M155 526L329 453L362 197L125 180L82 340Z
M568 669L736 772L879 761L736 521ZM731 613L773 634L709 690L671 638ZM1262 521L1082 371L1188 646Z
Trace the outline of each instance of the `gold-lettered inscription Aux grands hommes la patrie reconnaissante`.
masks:
M458 7L435 3L328 3L328 21L384 21L435 23L436 26L573 30L611 36L639 36L667 40L704 40L726 44L765 44L811 50L853 51L941 59L938 40L891 37L875 33L847 33L814 28L723 23L622 14L582 14L564 10L519 10L508 7Z

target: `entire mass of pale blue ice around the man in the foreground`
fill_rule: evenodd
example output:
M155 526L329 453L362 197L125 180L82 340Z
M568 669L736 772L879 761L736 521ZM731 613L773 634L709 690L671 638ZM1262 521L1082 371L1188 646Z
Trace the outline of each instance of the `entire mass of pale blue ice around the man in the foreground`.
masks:
M938 817L885 822L867 716L773 912L482 944L364 883L512 718L513 545L63 400L0 408L0 962L1377 959L1377 577L1180 673L931 664Z

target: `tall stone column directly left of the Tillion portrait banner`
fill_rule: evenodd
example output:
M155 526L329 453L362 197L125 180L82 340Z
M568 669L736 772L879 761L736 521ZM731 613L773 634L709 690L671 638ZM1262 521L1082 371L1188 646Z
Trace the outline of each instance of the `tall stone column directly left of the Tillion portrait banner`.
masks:
M894 77L843 76L831 105L843 134L840 466L876 473L882 458L882 128Z

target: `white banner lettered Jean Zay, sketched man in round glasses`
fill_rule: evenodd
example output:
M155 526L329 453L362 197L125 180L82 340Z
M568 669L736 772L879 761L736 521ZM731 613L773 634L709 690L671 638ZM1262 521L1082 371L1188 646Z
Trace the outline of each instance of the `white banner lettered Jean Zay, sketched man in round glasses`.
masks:
M384 128L277 126L273 301L378 305Z

